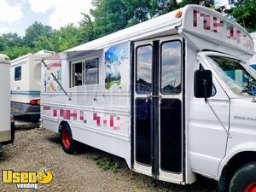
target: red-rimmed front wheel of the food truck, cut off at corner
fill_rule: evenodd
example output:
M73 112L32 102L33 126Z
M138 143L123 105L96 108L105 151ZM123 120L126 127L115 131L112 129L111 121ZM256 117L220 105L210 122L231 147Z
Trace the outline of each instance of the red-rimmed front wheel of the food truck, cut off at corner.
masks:
M230 192L256 192L256 162L236 171L230 182Z

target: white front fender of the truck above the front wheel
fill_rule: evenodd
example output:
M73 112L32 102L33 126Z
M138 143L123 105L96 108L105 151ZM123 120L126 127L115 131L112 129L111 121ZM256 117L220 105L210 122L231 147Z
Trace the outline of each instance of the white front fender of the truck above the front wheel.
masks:
M227 162L241 152L256 151L255 103L252 98L236 98L230 103L230 137L227 154L219 166L219 174Z

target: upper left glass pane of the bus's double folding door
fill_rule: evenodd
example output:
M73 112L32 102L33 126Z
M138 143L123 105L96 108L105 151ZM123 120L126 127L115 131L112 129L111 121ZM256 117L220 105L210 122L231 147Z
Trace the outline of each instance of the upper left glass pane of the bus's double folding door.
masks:
M152 46L146 45L137 48L137 94L148 94L152 91Z

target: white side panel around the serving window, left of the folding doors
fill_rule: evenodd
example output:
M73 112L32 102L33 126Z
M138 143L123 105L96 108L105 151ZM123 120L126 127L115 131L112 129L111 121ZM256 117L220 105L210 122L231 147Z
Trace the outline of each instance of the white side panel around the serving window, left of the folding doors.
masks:
M128 43L125 44L125 47L127 50L130 49ZM102 51L96 51L93 55L83 55L79 58L61 61L61 83L70 94L70 101L69 96L65 96L62 91L45 91L44 82L42 82L41 118L43 119L43 125L52 131L58 132L59 124L62 120L65 120L73 130L74 139L95 148L101 148L108 153L124 157L127 162L131 162L129 55L126 58L125 65L122 65L119 69L122 75L120 85L114 85L106 90L104 87L105 68L100 67L99 84L69 88L69 62L84 61L85 58L93 56L97 56L99 62L104 63ZM44 75L45 68L43 67L42 79L44 79ZM53 110L57 110L55 117ZM65 115L61 117L60 110L77 113L77 117L75 119L72 115L70 118L65 117ZM97 124L94 115L101 119L100 124ZM83 118L81 119L81 117ZM110 125L110 119L112 118L113 125ZM99 141L104 141L105 144L102 145ZM130 163L128 165L131 166Z

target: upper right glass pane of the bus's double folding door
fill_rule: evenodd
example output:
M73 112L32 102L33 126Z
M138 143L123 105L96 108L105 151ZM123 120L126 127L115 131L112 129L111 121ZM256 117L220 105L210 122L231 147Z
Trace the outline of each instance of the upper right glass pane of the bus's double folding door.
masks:
M161 93L165 95L181 92L181 42L161 44Z

